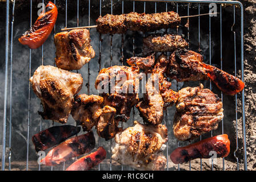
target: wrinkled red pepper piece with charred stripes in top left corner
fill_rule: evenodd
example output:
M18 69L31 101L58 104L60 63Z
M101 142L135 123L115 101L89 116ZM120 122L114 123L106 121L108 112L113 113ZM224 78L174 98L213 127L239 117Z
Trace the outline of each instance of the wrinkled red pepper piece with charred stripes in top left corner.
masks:
M45 13L41 13L37 21L33 24L30 30L26 31L20 38L19 42L29 46L31 49L36 49L45 42L53 30L57 20L58 10L54 3L49 2L45 7Z

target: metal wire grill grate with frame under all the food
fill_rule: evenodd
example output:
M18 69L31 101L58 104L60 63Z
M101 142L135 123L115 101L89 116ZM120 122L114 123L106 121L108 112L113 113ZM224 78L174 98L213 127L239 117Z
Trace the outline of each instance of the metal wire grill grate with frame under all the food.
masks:
M89 11L88 11L88 24L90 26L90 0L89 1ZM123 6L124 6L124 3L126 1L122 1L122 13L124 13L124 9L123 9ZM241 14L240 14L240 18L241 18L241 22L240 22L240 28L241 28L241 36L240 36L240 39L241 39L241 55L239 55L241 57L241 80L244 81L244 78L243 78L243 5L241 2L237 2L237 1L186 1L186 0L182 0L182 1L178 1L178 0L173 0L173 1L168 1L168 0L165 0L165 1L153 1L153 0L135 0L133 1L133 11L135 11L135 2L144 2L143 5L144 5L144 13L150 13L150 12L146 12L146 3L147 2L155 2L155 13L157 13L157 3L158 2L165 2L166 4L166 11L167 11L167 6L168 6L168 3L170 2L174 2L176 3L177 5L177 13L178 13L178 7L179 7L179 3L187 3L187 15L189 15L190 13L190 4L192 3L197 3L198 4L198 14L200 14L200 7L202 4L210 4L210 3L216 3L217 5L219 5L219 8L220 8L220 12L219 12L219 15L220 15L220 27L221 27L221 30L220 30L220 35L221 35L221 69L222 69L222 5L231 5L233 6L233 26L235 25L236 23L236 19L235 19L235 10L237 8L240 9L241 11ZM9 115L9 121L10 121L10 126L11 126L11 119L12 119L12 86L13 86L13 24L14 24L14 9L15 9L15 0L13 1L13 11L12 11L12 14L11 16L9 15L9 0L6 1L6 41L5 41L5 44L6 44L6 48L5 48L5 97L4 97L4 110L3 110L3 133L2 133L2 170L5 170L5 148L6 148L6 142L7 142L7 138L6 138L6 121L7 121L7 93L8 93L8 90L10 90L10 115ZM44 3L44 1L42 0L42 3ZM54 0L54 3L56 3L56 0ZM32 0L30 0L30 26L32 25ZM100 15L102 13L102 0L99 1L99 5L100 5ZM152 12L151 12L152 13ZM113 0L111 0L111 14L113 14ZM11 18L11 31L9 32L9 20ZM189 21L189 18L187 18L188 21ZM200 47L201 47L201 43L200 43L200 26L201 26L201 22L200 22L200 16L198 16L198 50L200 50ZM67 0L66 0L66 7L65 7L65 26L67 27ZM77 26L79 26L79 0L77 0ZM231 31L234 32L234 65L235 65L235 76L237 76L237 49L236 49L236 32L233 30L233 26L231 27ZM177 28L177 33L178 33L178 28ZM11 34L11 35L9 35ZM55 26L54 26L54 35L55 35ZM209 47L210 47L210 64L211 64L211 17L209 16L209 35L210 35L210 40L209 40ZM9 40L9 36L10 36L10 40ZM123 34L122 34L122 49L121 49L121 60L122 60L122 65L123 65ZM111 61L111 66L113 65L113 35L110 35L109 36L110 38L110 61ZM188 32L187 32L187 38L189 39L189 27L188 27ZM10 41L10 43L9 43ZM9 45L10 44L10 45ZM101 40L101 34L99 34L99 59L98 59L98 62L99 62L99 70L102 69L102 60L101 60L101 51L102 51L102 40ZM10 47L10 51L9 51L9 47ZM54 44L53 44L53 47L54 47ZM135 55L135 43L134 43L134 33L133 33L133 56ZM53 52L55 55L55 47L53 49ZM9 70L9 57L10 57L10 70ZM53 56L53 65L55 65L55 61L54 61L54 56ZM43 65L43 46L42 46L42 57L41 57L41 64ZM90 94L90 62L87 64L88 65L88 82L87 82L87 93ZM78 72L78 71L77 71ZM9 81L9 87L8 87L8 78L9 78L9 75L10 75L10 81ZM29 78L31 77L31 49L29 51ZM187 82L187 85L189 86L189 82ZM178 82L177 82L177 90L179 89L179 86L178 86ZM211 82L210 82L210 89L211 89ZM243 169L244 170L247 170L247 154L246 154L246 128L245 128L245 93L244 93L244 90L242 90L242 96L241 96L241 101L242 101L242 136L243 136ZM221 92L221 99L223 101L223 94ZM236 136L236 149L234 151L234 157L237 159L237 170L239 170L239 161L238 161L238 158L237 156L235 155L235 153L238 151L239 149L239 146L238 146L238 115L237 115L237 112L238 112L238 104L237 104L237 101L238 101L238 98L237 98L237 95L235 95L235 136ZM30 106L30 102L31 102L31 90L30 90L30 86L28 88L28 119L27 119L27 154L26 154L26 169L29 169L29 139L30 139L30 125L31 125L31 121L30 121L30 110L31 110L31 106ZM41 110L42 110L42 105L41 105ZM135 111L134 111L134 108L133 108L133 120L134 120L134 114L135 114ZM167 110L166 110L166 113L165 113L165 123L167 123L167 120L168 117L167 117ZM223 130L224 130L224 126L223 126L223 119L222 119L222 134L223 134ZM40 119L40 131L42 130L42 118ZM54 126L54 123L52 123L52 126ZM122 126L123 126L123 123L122 123ZM9 147L11 148L11 134L12 134L12 131L11 131L11 127L9 127L10 131L9 131ZM211 136L213 136L213 132L211 131ZM201 140L201 137L200 137L200 140ZM99 142L98 142L98 145L100 146L101 145L101 139L99 138ZM112 140L110 140L110 147L112 146ZM180 142L177 143L177 146L180 146ZM111 148L110 149L110 152L111 152ZM167 147L167 151L166 151L166 158L167 158L167 166L168 166L168 163L169 163L169 151L168 151L168 147ZM11 170L11 150L9 152L9 170ZM201 170L202 170L202 159L200 160L201 161ZM123 166L121 165L121 168L123 169ZM63 169L65 169L65 163L63 164ZM101 170L101 164L99 164L98 166L98 169ZM110 170L112 169L112 163L111 163L111 158L110 158ZM180 169L180 166L178 164L178 170ZM189 169L191 170L191 162L189 162ZM213 170L213 162L211 164L211 169ZM41 165L39 164L38 166L38 170L41 170ZM51 167L51 170L53 170L53 167ZM169 170L169 168L167 167L167 170ZM225 160L223 158L223 170L225 170Z

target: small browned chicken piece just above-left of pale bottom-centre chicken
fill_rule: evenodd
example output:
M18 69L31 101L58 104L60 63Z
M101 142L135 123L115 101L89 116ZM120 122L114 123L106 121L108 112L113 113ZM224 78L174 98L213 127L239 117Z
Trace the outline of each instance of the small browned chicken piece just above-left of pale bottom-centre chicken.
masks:
M122 130L118 127L118 121L114 119L115 112L114 107L105 106L102 109L101 117L99 117L97 133L99 137L105 138L105 140L114 138L115 134Z

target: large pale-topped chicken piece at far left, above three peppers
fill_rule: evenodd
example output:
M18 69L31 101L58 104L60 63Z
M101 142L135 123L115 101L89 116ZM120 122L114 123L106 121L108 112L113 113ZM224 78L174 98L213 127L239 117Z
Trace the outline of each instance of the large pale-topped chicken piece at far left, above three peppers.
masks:
M43 119L66 123L71 112L74 95L81 90L83 78L50 65L40 66L30 78L34 93L41 99Z

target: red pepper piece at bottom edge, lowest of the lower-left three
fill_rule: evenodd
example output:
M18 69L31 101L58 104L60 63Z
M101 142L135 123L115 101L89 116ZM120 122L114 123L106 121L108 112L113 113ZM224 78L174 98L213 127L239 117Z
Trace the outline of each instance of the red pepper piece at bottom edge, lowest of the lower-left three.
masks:
M103 147L99 147L97 151L83 156L76 162L71 164L66 171L87 171L94 166L98 165L106 158L106 151Z

